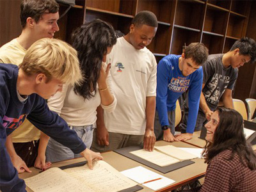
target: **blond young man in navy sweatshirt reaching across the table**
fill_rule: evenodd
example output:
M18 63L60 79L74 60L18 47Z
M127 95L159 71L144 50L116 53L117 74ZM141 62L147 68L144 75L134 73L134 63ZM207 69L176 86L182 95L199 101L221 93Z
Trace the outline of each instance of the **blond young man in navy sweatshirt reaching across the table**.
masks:
M19 67L0 64L0 191L26 191L24 180L19 179L4 147L6 137L26 118L40 131L80 153L90 168L93 159L102 159L86 148L76 132L45 102L61 91L64 83L75 84L81 79L76 50L56 39L43 38L31 45Z

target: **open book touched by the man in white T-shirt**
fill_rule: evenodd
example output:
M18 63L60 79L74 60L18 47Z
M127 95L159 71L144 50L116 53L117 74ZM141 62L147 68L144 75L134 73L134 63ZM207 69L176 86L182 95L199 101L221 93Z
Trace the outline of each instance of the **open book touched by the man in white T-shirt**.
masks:
M170 164L197 158L197 156L172 145L161 147L155 146L154 148L155 150L152 152L149 152L145 149L140 149L130 153L145 159L150 163L157 164L158 166L168 166Z

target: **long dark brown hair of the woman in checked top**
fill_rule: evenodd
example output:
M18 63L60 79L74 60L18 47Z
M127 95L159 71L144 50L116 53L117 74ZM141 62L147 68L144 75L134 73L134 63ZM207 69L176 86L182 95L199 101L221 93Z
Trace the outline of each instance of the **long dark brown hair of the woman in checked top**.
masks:
M205 163L209 163L223 150L230 149L232 154L228 160L232 160L237 154L244 166L255 170L256 155L244 137L243 117L234 109L217 108L216 111L218 111L220 122L214 132L213 143L207 141L205 145L203 153Z

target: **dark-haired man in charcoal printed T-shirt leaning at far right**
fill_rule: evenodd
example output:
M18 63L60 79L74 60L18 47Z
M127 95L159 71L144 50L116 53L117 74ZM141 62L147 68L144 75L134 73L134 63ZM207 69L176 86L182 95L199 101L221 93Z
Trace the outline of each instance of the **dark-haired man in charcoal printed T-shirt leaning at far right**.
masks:
M209 120L220 99L225 108L233 109L232 90L236 83L238 68L256 58L256 43L252 38L244 37L232 45L225 54L211 54L203 65L204 79L200 96L200 108L195 130L201 130ZM190 106L189 106L190 108ZM180 127L186 131L188 103L184 105L184 118Z

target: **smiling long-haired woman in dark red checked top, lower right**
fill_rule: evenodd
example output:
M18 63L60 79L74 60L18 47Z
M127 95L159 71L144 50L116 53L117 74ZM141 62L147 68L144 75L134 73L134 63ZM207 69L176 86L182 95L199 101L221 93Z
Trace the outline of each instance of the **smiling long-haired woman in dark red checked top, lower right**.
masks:
M207 124L203 191L255 191L256 156L243 133L243 117L218 108Z

